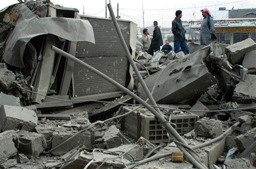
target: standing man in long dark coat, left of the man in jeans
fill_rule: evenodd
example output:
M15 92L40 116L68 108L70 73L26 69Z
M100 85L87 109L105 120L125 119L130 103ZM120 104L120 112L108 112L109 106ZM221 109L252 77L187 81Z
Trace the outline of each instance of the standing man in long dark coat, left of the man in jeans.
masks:
M150 44L150 48L148 49L148 53L153 55L154 52L160 50L160 46L162 45L162 34L160 28L157 26L157 21L153 22L154 30L153 30L153 37Z

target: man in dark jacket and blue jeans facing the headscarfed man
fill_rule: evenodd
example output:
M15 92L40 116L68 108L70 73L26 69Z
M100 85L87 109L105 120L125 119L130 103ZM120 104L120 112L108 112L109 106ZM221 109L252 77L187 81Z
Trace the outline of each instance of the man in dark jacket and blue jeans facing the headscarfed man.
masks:
M173 41L174 41L174 52L177 53L180 51L184 52L184 54L188 54L188 46L186 44L185 39L185 29L182 26L182 11L177 10L175 12L176 17L171 22L171 31L173 33Z

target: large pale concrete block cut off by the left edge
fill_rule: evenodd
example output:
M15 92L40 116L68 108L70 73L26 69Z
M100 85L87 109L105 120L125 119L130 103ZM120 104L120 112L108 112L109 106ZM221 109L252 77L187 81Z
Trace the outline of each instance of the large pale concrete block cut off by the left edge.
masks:
M37 116L33 110L20 106L2 105L0 107L0 129L31 130L37 125Z

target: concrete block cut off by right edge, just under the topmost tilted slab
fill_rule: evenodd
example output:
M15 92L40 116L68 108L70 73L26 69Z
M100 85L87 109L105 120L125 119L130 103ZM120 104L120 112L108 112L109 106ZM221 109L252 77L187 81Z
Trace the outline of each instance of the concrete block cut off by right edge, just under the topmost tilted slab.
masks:
M244 54L242 66L247 68L249 73L256 71L256 50Z

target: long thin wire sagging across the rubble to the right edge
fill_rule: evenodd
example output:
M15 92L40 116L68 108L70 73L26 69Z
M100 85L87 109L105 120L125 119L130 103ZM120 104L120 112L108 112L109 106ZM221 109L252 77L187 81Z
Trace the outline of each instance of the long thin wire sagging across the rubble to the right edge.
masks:
M112 104L120 104L120 105L133 105L133 106L137 105L137 106L142 106L142 104L131 104L131 103L122 103L122 102L100 101L100 100L64 100L64 99L55 98L55 97L51 97L51 96L48 96L48 95L40 94L40 93L37 93L35 91L31 91L31 90L28 90L26 88L22 88L22 87L19 87L19 86L16 86L16 87L21 88L21 89L26 90L26 91L29 91L29 92L32 92L32 93L36 93L38 95L42 95L42 96L45 96L45 97L48 97L48 98L59 100L59 101L66 101L66 102L88 102L88 101L94 101L94 102L112 103ZM254 108L256 108L256 105L255 105L255 106L250 106L250 107L233 108L233 109L225 109L225 110L222 110L222 109L217 109L217 110L187 110L187 109L163 107L163 106L159 106L159 105L157 105L157 106L150 105L150 106L158 107L158 108L163 108L163 109L169 109L169 110L190 111L190 112L221 112L221 111L237 111L237 110L246 110L246 109L254 109Z

